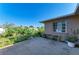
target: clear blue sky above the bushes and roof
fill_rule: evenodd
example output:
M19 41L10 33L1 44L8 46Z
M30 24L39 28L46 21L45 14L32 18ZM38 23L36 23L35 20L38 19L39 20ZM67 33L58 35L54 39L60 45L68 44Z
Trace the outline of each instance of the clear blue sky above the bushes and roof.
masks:
M42 26L39 22L74 12L76 4L68 3L0 3L0 24Z

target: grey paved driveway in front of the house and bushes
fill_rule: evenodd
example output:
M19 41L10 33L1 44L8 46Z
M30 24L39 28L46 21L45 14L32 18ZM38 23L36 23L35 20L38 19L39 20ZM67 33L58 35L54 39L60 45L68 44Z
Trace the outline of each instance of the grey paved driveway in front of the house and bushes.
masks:
M79 48L37 37L0 50L1 55L69 55L79 54Z

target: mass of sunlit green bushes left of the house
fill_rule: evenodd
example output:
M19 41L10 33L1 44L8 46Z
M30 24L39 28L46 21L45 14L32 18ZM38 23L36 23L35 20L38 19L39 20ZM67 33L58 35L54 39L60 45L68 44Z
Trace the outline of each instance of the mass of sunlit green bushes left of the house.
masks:
M4 24L3 27L5 32L0 35L0 47L27 40L30 37L42 36L44 33L43 27L16 26L8 23Z

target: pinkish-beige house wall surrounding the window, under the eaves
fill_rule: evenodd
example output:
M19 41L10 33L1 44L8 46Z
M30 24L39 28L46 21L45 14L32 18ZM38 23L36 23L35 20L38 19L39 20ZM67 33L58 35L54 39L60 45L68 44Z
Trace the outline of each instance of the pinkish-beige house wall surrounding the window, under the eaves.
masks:
M66 33L53 32L53 22L61 22L63 20L67 21L67 32ZM78 28L79 28L79 15L45 22L45 34L66 35L66 34L71 34L73 30L78 29Z

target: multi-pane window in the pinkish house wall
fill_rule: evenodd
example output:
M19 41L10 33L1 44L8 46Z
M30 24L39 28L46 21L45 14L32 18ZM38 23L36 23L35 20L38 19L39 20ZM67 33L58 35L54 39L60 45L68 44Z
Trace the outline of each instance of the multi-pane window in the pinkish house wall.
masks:
M67 29L67 22L55 22L53 23L53 31L54 32L66 32Z

